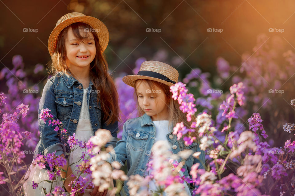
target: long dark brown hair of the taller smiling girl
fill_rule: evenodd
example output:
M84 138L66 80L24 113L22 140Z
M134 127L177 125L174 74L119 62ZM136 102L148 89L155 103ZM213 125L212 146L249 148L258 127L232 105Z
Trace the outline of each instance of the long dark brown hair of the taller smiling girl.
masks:
M66 28L64 28L57 38L57 47L52 55L52 64L51 64L51 74L54 75L57 72L68 72L68 67L66 64L66 48L65 40L67 37L67 32L69 28L72 28L73 35L79 40L88 37L86 31L86 37L80 34L79 29L85 29L92 27L88 24L77 22L73 23ZM100 100L101 109L104 113L103 120L106 124L114 123L119 120L119 102L118 102L118 93L116 90L115 83L108 74L108 63L105 60L105 55L101 50L99 39L96 32L92 32L95 41L96 55L93 61L90 63L90 78L96 90L99 90L97 94L97 102Z

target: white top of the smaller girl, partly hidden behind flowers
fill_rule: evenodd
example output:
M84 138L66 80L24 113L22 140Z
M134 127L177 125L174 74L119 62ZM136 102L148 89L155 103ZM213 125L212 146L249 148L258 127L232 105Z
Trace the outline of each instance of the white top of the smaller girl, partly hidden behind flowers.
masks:
M169 126L168 126L169 121L168 120L157 120L157 121L153 121L153 123L155 125L155 130L156 130L154 144L157 141L162 141L162 142L167 143L170 146L170 144L166 138L166 135L170 133ZM171 149L169 151L172 152ZM149 161L151 161L151 158ZM150 174L151 174L151 170L145 172L145 175L150 175ZM179 171L179 175L183 176L184 174L182 171ZM191 196L191 190L188 187L187 183L184 182L183 184L184 184L187 195ZM155 192L155 190L157 190L157 185L155 184L155 180L149 181L148 182L148 192ZM169 196L169 195L167 194L167 192L164 191L163 196Z

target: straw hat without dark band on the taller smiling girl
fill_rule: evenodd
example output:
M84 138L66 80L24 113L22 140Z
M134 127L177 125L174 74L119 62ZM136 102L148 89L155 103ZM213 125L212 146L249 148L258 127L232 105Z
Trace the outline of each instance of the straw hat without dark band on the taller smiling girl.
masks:
M48 39L48 51L50 53L50 56L52 56L55 51L57 37L60 34L60 32L65 27L76 22L83 22L90 25L94 29L94 31L96 32L99 38L99 43L100 43L102 51L104 51L107 48L109 35L108 35L108 28L104 25L104 23L102 23L100 20L98 20L95 17L86 16L85 14L79 13L79 12L72 12L62 16L57 21L55 28L51 32Z

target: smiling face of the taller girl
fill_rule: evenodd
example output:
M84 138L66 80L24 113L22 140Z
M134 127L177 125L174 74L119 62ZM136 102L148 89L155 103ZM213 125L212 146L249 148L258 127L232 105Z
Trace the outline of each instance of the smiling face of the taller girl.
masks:
M80 34L86 36L84 28L79 29ZM69 69L90 68L90 63L95 58L96 48L92 33L81 42L74 36L70 27L65 39L66 62Z

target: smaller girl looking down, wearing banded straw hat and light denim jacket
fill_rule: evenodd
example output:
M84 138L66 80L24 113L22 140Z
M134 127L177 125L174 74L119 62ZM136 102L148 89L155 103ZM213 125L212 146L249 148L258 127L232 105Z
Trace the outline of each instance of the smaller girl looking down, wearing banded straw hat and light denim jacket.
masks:
M130 119L123 126L122 140L109 154L107 162L118 161L121 165L127 160L128 176L139 174L148 175L147 164L150 160L151 149L156 141L167 142L172 153L176 154L184 149L201 152L200 158L190 156L185 161L185 171L180 175L189 176L191 166L200 163L204 168L205 154L200 150L198 143L184 145L173 135L173 127L181 121L187 127L186 115L180 111L177 100L171 98L170 86L178 80L178 72L173 67L158 61L145 61L135 76L125 76L123 81L135 89L140 117ZM198 138L198 137L197 137ZM121 196L129 195L127 182L121 190ZM149 191L155 191L155 183L149 183ZM191 190L186 185L187 194Z

